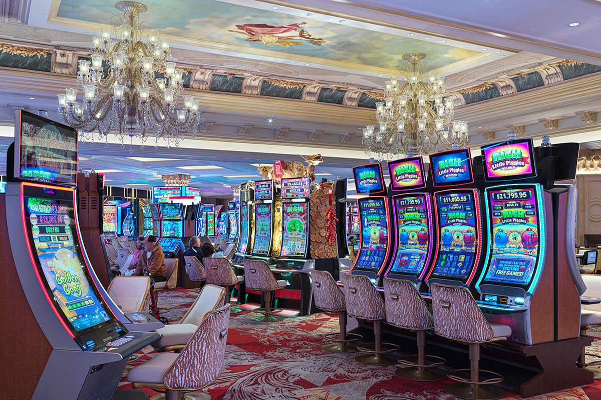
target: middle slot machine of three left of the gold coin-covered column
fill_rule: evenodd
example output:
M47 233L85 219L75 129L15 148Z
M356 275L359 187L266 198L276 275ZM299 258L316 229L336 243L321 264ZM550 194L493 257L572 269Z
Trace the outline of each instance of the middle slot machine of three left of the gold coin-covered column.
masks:
M251 254L267 258L273 244L273 181L255 182L255 229Z

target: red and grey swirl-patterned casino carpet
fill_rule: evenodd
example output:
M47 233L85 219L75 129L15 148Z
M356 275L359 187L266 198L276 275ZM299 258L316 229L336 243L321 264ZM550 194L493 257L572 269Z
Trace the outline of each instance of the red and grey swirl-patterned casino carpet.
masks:
M177 321L195 296L183 289L163 291L159 305L171 308L166 317ZM213 400L456 399L442 390L449 380L426 384L407 381L394 375L395 366L367 366L355 362L353 354L322 351L322 336L338 330L334 316L313 314L265 324L252 321L253 315L244 311L231 316L225 369L208 388ZM601 357L601 341L596 341L587 353ZM151 347L144 348L133 365L154 354ZM601 381L597 382L532 399L601 400ZM131 386L124 378L120 387ZM156 395L150 389L147 393ZM510 395L506 399L520 397Z

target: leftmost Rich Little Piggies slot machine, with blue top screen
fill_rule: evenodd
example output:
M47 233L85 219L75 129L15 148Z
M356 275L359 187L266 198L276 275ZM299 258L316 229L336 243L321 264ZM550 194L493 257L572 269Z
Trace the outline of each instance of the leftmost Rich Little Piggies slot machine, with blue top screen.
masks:
M373 284L380 275L391 252L389 237L389 212L386 185L379 163L353 168L355 188L358 194L366 194L357 200L359 210L359 251L349 270L354 275L366 275Z

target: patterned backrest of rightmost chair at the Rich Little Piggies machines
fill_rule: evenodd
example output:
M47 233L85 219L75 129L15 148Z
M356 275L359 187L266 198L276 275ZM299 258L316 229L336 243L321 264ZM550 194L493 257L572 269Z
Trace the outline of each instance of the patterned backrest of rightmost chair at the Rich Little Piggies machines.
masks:
M493 338L492 327L465 287L433 283L430 291L437 335L466 343L487 342Z

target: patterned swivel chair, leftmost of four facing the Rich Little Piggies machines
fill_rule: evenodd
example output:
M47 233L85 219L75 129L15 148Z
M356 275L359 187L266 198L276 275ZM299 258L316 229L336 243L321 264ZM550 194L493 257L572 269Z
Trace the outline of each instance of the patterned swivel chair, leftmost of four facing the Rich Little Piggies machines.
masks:
M325 312L338 312L338 324L340 334L329 333L324 338L334 342L322 346L325 351L331 353L354 353L356 347L349 345L350 342L361 339L361 335L346 332L346 302L344 293L332 278L328 271L311 271L311 284L313 285L313 300L317 308Z

